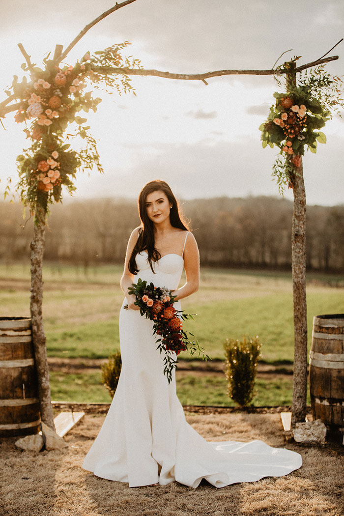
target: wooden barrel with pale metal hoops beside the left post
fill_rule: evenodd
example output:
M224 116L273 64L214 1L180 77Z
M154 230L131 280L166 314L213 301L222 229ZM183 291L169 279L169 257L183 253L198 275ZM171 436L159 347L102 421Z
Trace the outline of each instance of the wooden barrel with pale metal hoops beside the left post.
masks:
M0 317L0 437L39 431L31 319Z

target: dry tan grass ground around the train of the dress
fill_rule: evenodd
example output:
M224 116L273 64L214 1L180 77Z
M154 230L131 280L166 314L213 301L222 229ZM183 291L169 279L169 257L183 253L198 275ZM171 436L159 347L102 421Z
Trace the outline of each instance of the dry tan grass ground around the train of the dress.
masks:
M300 470L222 489L128 488L81 469L104 415L86 414L65 437L69 447L35 454L0 440L1 516L340 516L344 514L344 457L339 445L288 447L303 456ZM280 414L187 414L207 440L261 439L284 446Z

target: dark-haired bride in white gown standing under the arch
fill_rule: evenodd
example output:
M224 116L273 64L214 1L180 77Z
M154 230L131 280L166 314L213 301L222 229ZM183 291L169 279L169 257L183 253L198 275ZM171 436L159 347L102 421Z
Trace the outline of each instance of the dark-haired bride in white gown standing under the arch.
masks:
M129 487L174 480L196 488L202 478L215 487L281 476L301 466L301 456L251 443L205 441L185 420L176 396L175 374L163 375L152 321L139 313L128 288L138 278L174 291L183 299L199 286L196 241L182 222L177 201L164 181L146 184L139 196L141 226L130 235L121 287L122 372L109 412L83 467ZM183 269L186 283L178 288ZM128 310L124 310L124 305ZM175 303L180 310L180 303Z

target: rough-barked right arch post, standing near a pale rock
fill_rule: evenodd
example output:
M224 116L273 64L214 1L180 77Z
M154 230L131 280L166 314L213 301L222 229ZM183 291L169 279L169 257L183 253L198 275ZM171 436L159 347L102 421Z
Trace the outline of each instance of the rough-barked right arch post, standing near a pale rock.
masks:
M289 63L287 90L296 85L296 64ZM294 311L294 374L291 426L304 422L307 402L307 304L306 304L306 192L303 164L294 168L291 233L292 291Z

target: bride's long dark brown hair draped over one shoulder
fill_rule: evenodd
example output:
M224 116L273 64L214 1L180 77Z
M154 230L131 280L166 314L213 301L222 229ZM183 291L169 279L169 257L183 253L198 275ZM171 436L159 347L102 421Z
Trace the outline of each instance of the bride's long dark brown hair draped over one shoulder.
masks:
M139 215L141 219L141 228L139 230L139 236L136 242L136 245L133 249L132 254L130 255L128 268L132 274L137 274L138 268L136 265L136 255L141 251L147 251L148 253L148 261L151 266L152 271L154 272L152 262L157 262L161 255L159 251L155 249L154 243L154 225L152 220L147 215L146 210L146 198L147 196L155 191L162 191L165 193L168 198L170 204L172 205L170 209L170 222L174 228L180 228L185 231L189 231L187 224L184 220L182 220L181 215L179 214L179 206L176 198L173 195L173 192L169 185L165 181L150 181L140 191L139 199L138 199L138 208Z

